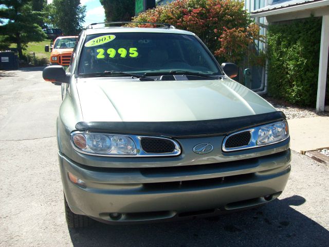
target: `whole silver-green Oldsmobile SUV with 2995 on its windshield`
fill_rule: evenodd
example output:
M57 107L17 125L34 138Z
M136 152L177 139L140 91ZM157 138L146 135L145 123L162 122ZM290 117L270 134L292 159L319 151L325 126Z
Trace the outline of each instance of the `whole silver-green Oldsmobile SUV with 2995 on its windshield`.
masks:
M230 79L237 71L167 24L83 30L68 70L43 71L63 89L68 226L214 216L275 200L290 172L288 125Z

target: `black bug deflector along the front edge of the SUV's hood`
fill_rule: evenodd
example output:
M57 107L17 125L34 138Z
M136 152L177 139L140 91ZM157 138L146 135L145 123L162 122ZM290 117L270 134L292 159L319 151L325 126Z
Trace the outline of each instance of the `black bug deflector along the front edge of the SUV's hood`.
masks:
M267 123L285 120L283 112L201 121L175 122L78 122L76 130L114 134L156 135L175 138L227 135Z

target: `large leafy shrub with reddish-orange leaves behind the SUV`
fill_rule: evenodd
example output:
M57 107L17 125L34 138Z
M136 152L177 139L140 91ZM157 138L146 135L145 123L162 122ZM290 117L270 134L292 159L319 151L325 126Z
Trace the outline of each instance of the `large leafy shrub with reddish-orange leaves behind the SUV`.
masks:
M263 60L254 59L257 52L253 44L263 37L243 7L237 0L178 0L142 12L133 21L169 23L194 32L218 62L242 65L248 57L251 62L262 63Z

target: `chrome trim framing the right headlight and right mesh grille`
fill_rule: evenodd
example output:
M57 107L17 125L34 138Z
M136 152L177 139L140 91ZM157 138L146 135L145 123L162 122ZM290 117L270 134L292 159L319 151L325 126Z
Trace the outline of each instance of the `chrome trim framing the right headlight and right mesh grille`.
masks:
M272 122L272 123L268 123L266 125L261 125L261 126L257 126L257 127L253 127L253 128L250 128L250 129L241 130L241 131L237 131L237 132L234 132L232 134L229 134L223 140L222 150L224 152L233 152L233 151L240 151L240 150L244 150L244 149L258 148L258 147L264 147L264 146L268 146L268 145L272 145L272 144L276 144L276 143L281 143L284 140L289 138L289 136L290 136L289 135L289 130L288 130L287 136L283 139L278 140L278 142L272 142L272 143L268 143L268 144L258 145L257 140L258 140L258 132L261 128L266 127L266 126L275 125L277 123L282 123L282 122L284 122L286 124L286 126L288 126L288 122L286 120L283 120L283 121ZM247 132L247 131L250 132L250 136L251 136L248 145L241 146L241 147L235 147L235 148L226 148L225 147L226 141L229 137L231 137L232 135L236 135L236 134L239 134L239 133L242 133L242 132Z

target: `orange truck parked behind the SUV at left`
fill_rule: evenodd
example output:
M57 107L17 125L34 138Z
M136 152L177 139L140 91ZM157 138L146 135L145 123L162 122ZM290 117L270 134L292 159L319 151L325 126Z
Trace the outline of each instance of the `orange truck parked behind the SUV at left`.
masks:
M61 36L54 41L50 48L49 45L46 45L45 51L51 51L50 65L68 66L77 38L77 36Z

